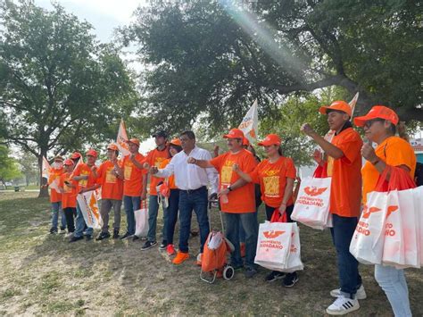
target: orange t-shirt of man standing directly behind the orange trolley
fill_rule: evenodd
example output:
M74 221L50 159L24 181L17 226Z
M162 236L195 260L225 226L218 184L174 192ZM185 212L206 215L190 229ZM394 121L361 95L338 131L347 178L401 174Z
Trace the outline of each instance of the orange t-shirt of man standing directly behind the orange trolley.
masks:
M238 174L232 171L232 165L238 164L241 171L251 173L257 166L253 154L242 149L236 154L227 152L210 161L211 165L219 171L220 188L228 188L229 185L239 179ZM220 199L220 208L223 213L254 213L255 212L255 194L254 184L245 184L242 188L236 188L228 194L228 204L222 203Z

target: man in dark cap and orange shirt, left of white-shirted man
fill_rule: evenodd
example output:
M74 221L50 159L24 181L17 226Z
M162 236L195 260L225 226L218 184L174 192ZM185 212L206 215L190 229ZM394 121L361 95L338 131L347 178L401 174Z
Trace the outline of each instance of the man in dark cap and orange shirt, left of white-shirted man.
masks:
M149 167L155 166L160 168L162 162L170 158L168 136L164 131L158 131L153 134L153 138L156 144L156 148L150 151L145 157L145 163ZM145 183L146 183L147 174L145 174ZM159 200L157 196L157 185L162 182L164 179L155 177L154 175L150 176L150 196L148 198L148 234L147 240L145 241L144 246L141 247L141 250L148 250L150 247L157 244L156 241L156 228L157 228L157 213L159 213ZM145 193L146 194L146 187ZM163 215L163 217L166 214ZM166 223L166 219L163 220ZM160 246L161 250L164 250L168 246L168 239L166 238L167 232L165 226L162 229L162 245Z

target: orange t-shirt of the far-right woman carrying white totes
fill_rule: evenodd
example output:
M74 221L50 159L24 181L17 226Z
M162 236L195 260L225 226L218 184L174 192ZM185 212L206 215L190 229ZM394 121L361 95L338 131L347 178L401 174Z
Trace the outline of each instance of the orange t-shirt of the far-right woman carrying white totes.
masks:
M416 154L406 140L399 137L386 138L376 147L375 152L388 165L406 165L410 169L411 179L414 179ZM363 177L362 199L363 203L366 203L367 194L375 190L380 174L372 163L366 162L361 169L361 175Z

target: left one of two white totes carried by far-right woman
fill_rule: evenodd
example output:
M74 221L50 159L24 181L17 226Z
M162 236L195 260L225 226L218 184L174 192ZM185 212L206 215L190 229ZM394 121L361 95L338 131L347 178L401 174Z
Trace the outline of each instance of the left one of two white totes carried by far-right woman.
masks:
M350 244L350 253L363 264L380 264L384 251L387 193L371 192Z

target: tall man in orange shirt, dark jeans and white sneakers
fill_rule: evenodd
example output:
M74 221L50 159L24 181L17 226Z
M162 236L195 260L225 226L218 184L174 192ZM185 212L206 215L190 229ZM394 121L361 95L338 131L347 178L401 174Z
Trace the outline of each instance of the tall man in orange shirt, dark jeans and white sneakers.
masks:
M302 130L311 137L328 156L328 176L332 177L329 212L333 217L332 238L336 246L339 281L341 288L330 292L336 297L326 312L345 314L360 308L357 299L366 293L361 285L357 260L350 254L352 234L357 226L361 204L361 155L360 135L352 129L352 110L344 101L320 107L319 112L328 115L328 124L335 136L331 142L320 137L309 124Z

